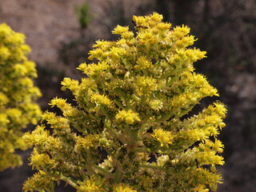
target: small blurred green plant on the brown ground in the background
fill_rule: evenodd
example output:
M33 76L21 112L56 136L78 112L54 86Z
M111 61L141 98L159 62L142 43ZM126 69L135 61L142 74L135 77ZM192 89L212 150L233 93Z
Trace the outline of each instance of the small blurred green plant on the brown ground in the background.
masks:
M91 16L89 14L89 6L85 2L82 6L75 6L74 7L75 13L78 17L78 22L82 29L85 29L88 26L89 22L91 21Z

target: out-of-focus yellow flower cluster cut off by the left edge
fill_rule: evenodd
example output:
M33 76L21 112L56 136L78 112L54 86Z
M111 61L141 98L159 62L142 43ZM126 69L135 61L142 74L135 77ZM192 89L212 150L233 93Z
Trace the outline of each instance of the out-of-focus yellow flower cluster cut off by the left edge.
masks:
M30 47L24 35L0 25L0 170L22 165L16 149L26 150L22 129L37 123L41 115L34 103L41 94L34 86L34 62L27 58Z

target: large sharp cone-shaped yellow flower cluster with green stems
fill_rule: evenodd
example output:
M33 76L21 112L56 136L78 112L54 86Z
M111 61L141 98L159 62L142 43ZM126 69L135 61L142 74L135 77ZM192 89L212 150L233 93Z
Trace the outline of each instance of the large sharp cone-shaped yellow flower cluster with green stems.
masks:
M134 16L134 35L117 26L116 42L97 41L82 63L88 78L64 78L62 90L77 105L54 98L50 106L62 116L45 112L23 136L34 145L30 165L38 170L25 191L54 191L60 180L77 191L200 191L216 190L223 165L218 140L226 108L214 102L184 118L207 96L218 91L193 63L206 52L191 48L190 28L162 21L162 15ZM103 155L107 154L107 155Z

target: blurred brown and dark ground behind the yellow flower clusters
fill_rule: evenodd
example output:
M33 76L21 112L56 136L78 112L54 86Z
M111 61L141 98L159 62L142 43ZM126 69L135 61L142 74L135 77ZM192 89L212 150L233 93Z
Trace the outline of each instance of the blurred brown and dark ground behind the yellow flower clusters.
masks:
M224 183L219 192L256 191L256 1L255 0L1 0L0 23L26 34L37 63L36 85L42 110L55 96L70 98L60 90L64 77L80 79L75 68L87 61L95 40L113 40L114 26L130 26L132 15L163 14L173 26L190 26L207 51L195 63L226 103L226 127L220 136L226 164L219 167ZM215 99L215 98L214 98ZM205 107L213 100L202 100ZM30 129L33 129L30 126ZM0 173L0 191L22 191L22 182L33 174L30 151L20 152L22 167ZM74 191L61 183L56 191Z

